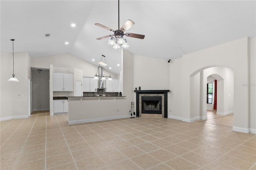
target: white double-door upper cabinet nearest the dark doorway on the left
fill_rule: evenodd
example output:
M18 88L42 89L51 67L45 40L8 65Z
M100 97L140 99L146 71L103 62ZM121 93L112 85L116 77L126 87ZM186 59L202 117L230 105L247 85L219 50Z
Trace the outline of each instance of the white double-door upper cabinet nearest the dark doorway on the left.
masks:
M53 73L53 91L74 91L74 74Z

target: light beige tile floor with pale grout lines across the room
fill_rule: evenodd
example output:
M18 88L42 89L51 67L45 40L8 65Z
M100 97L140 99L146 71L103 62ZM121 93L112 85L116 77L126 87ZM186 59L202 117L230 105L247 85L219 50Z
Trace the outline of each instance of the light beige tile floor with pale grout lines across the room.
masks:
M215 114L215 115L214 115ZM255 170L256 135L232 131L232 115L186 123L135 118L68 125L35 112L1 121L1 170Z

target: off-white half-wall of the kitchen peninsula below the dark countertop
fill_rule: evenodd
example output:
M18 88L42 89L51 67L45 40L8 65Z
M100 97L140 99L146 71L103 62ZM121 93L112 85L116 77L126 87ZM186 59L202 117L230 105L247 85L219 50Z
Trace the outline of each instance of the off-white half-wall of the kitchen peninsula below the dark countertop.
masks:
M128 118L124 111L125 96L68 97L68 124Z

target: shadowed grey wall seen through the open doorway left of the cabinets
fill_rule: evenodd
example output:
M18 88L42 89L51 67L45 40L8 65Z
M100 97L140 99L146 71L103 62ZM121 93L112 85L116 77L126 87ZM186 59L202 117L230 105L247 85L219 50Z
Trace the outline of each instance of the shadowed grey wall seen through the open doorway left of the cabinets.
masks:
M33 111L50 110L49 71L32 70Z

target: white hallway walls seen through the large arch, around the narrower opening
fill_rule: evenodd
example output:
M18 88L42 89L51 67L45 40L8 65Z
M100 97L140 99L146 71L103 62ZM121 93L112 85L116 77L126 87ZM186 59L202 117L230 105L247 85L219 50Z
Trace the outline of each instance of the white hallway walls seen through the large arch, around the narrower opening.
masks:
M228 115L234 109L234 71L228 67L202 68L190 75L190 116L207 119L207 77L217 80L216 115Z

